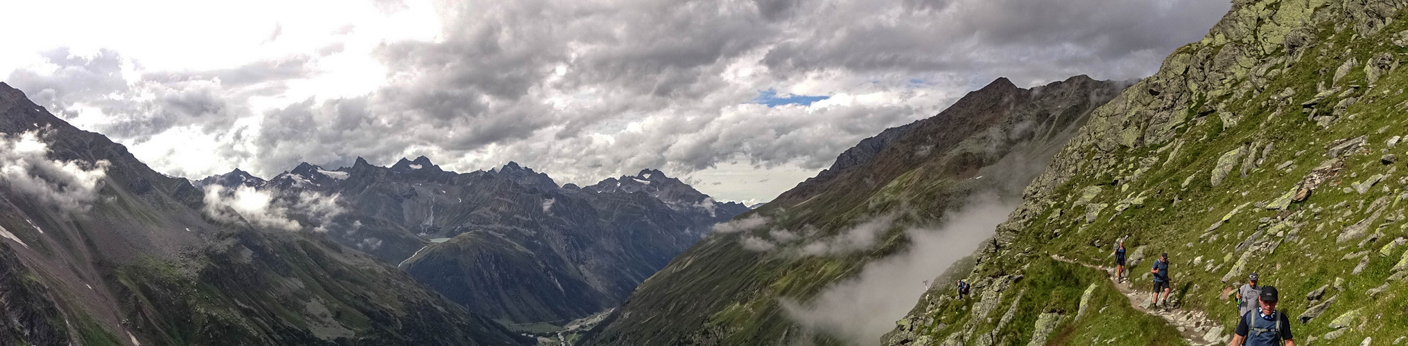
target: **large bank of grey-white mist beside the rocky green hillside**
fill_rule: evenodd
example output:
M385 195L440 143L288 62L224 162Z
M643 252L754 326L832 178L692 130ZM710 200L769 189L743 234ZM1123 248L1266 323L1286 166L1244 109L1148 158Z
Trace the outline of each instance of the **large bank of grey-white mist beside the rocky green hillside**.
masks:
M946 212L931 228L911 228L910 249L866 264L860 274L836 283L808 302L783 300L783 309L811 331L825 331L852 345L877 345L904 318L932 281L955 262L972 255L1017 208L986 194ZM952 286L952 283L932 283Z

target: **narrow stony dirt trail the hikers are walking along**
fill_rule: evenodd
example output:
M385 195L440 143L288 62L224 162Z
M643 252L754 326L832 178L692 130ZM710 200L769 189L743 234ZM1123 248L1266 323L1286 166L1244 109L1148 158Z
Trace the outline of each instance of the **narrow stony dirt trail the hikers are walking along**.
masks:
M1153 293L1148 291L1136 293L1128 281L1126 283L1117 281L1114 277L1115 273L1114 267L1101 267L1095 264L1080 263L1071 259L1062 257L1060 255L1052 255L1052 259L1066 263L1081 264L1090 269L1104 271L1105 276L1110 277L1110 283L1115 286L1115 290L1125 294L1125 297L1129 297L1129 307L1133 307L1138 311L1160 316L1164 321L1169 321L1170 325L1173 325L1174 328L1178 329L1178 332L1183 333L1183 339L1187 340L1188 345L1197 345L1197 346L1226 345L1231 340L1229 336L1232 331L1222 326L1219 322L1209 319L1207 312L1184 311L1177 307L1169 309L1150 307L1153 302ZM1125 270L1128 276L1128 267Z

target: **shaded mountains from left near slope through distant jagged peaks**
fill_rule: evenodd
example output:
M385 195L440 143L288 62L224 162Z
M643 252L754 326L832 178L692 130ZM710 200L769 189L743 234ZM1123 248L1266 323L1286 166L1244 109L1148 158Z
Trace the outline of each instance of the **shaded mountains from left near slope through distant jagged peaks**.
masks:
M0 84L0 340L508 345L615 307L717 222L659 170L558 186L508 163L151 170Z

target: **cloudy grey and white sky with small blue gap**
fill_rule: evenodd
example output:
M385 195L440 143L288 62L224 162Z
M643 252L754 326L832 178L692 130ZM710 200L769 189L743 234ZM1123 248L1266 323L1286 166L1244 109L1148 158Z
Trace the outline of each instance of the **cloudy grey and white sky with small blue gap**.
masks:
M766 201L1005 76L1136 79L1228 0L10 1L0 79L173 176L425 155Z

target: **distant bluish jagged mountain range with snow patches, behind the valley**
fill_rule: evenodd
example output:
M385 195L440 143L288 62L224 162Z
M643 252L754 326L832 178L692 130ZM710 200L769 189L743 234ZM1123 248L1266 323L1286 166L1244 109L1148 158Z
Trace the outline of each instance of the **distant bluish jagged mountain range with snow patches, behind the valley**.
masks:
M565 322L617 307L714 224L748 211L659 170L559 187L513 162L455 173L424 156L390 167L362 159L335 170L303 163L268 183L239 170L201 181L279 196L294 201L290 210L315 210L300 207L310 198L337 200L337 215L300 221L400 266L470 311L513 323Z

